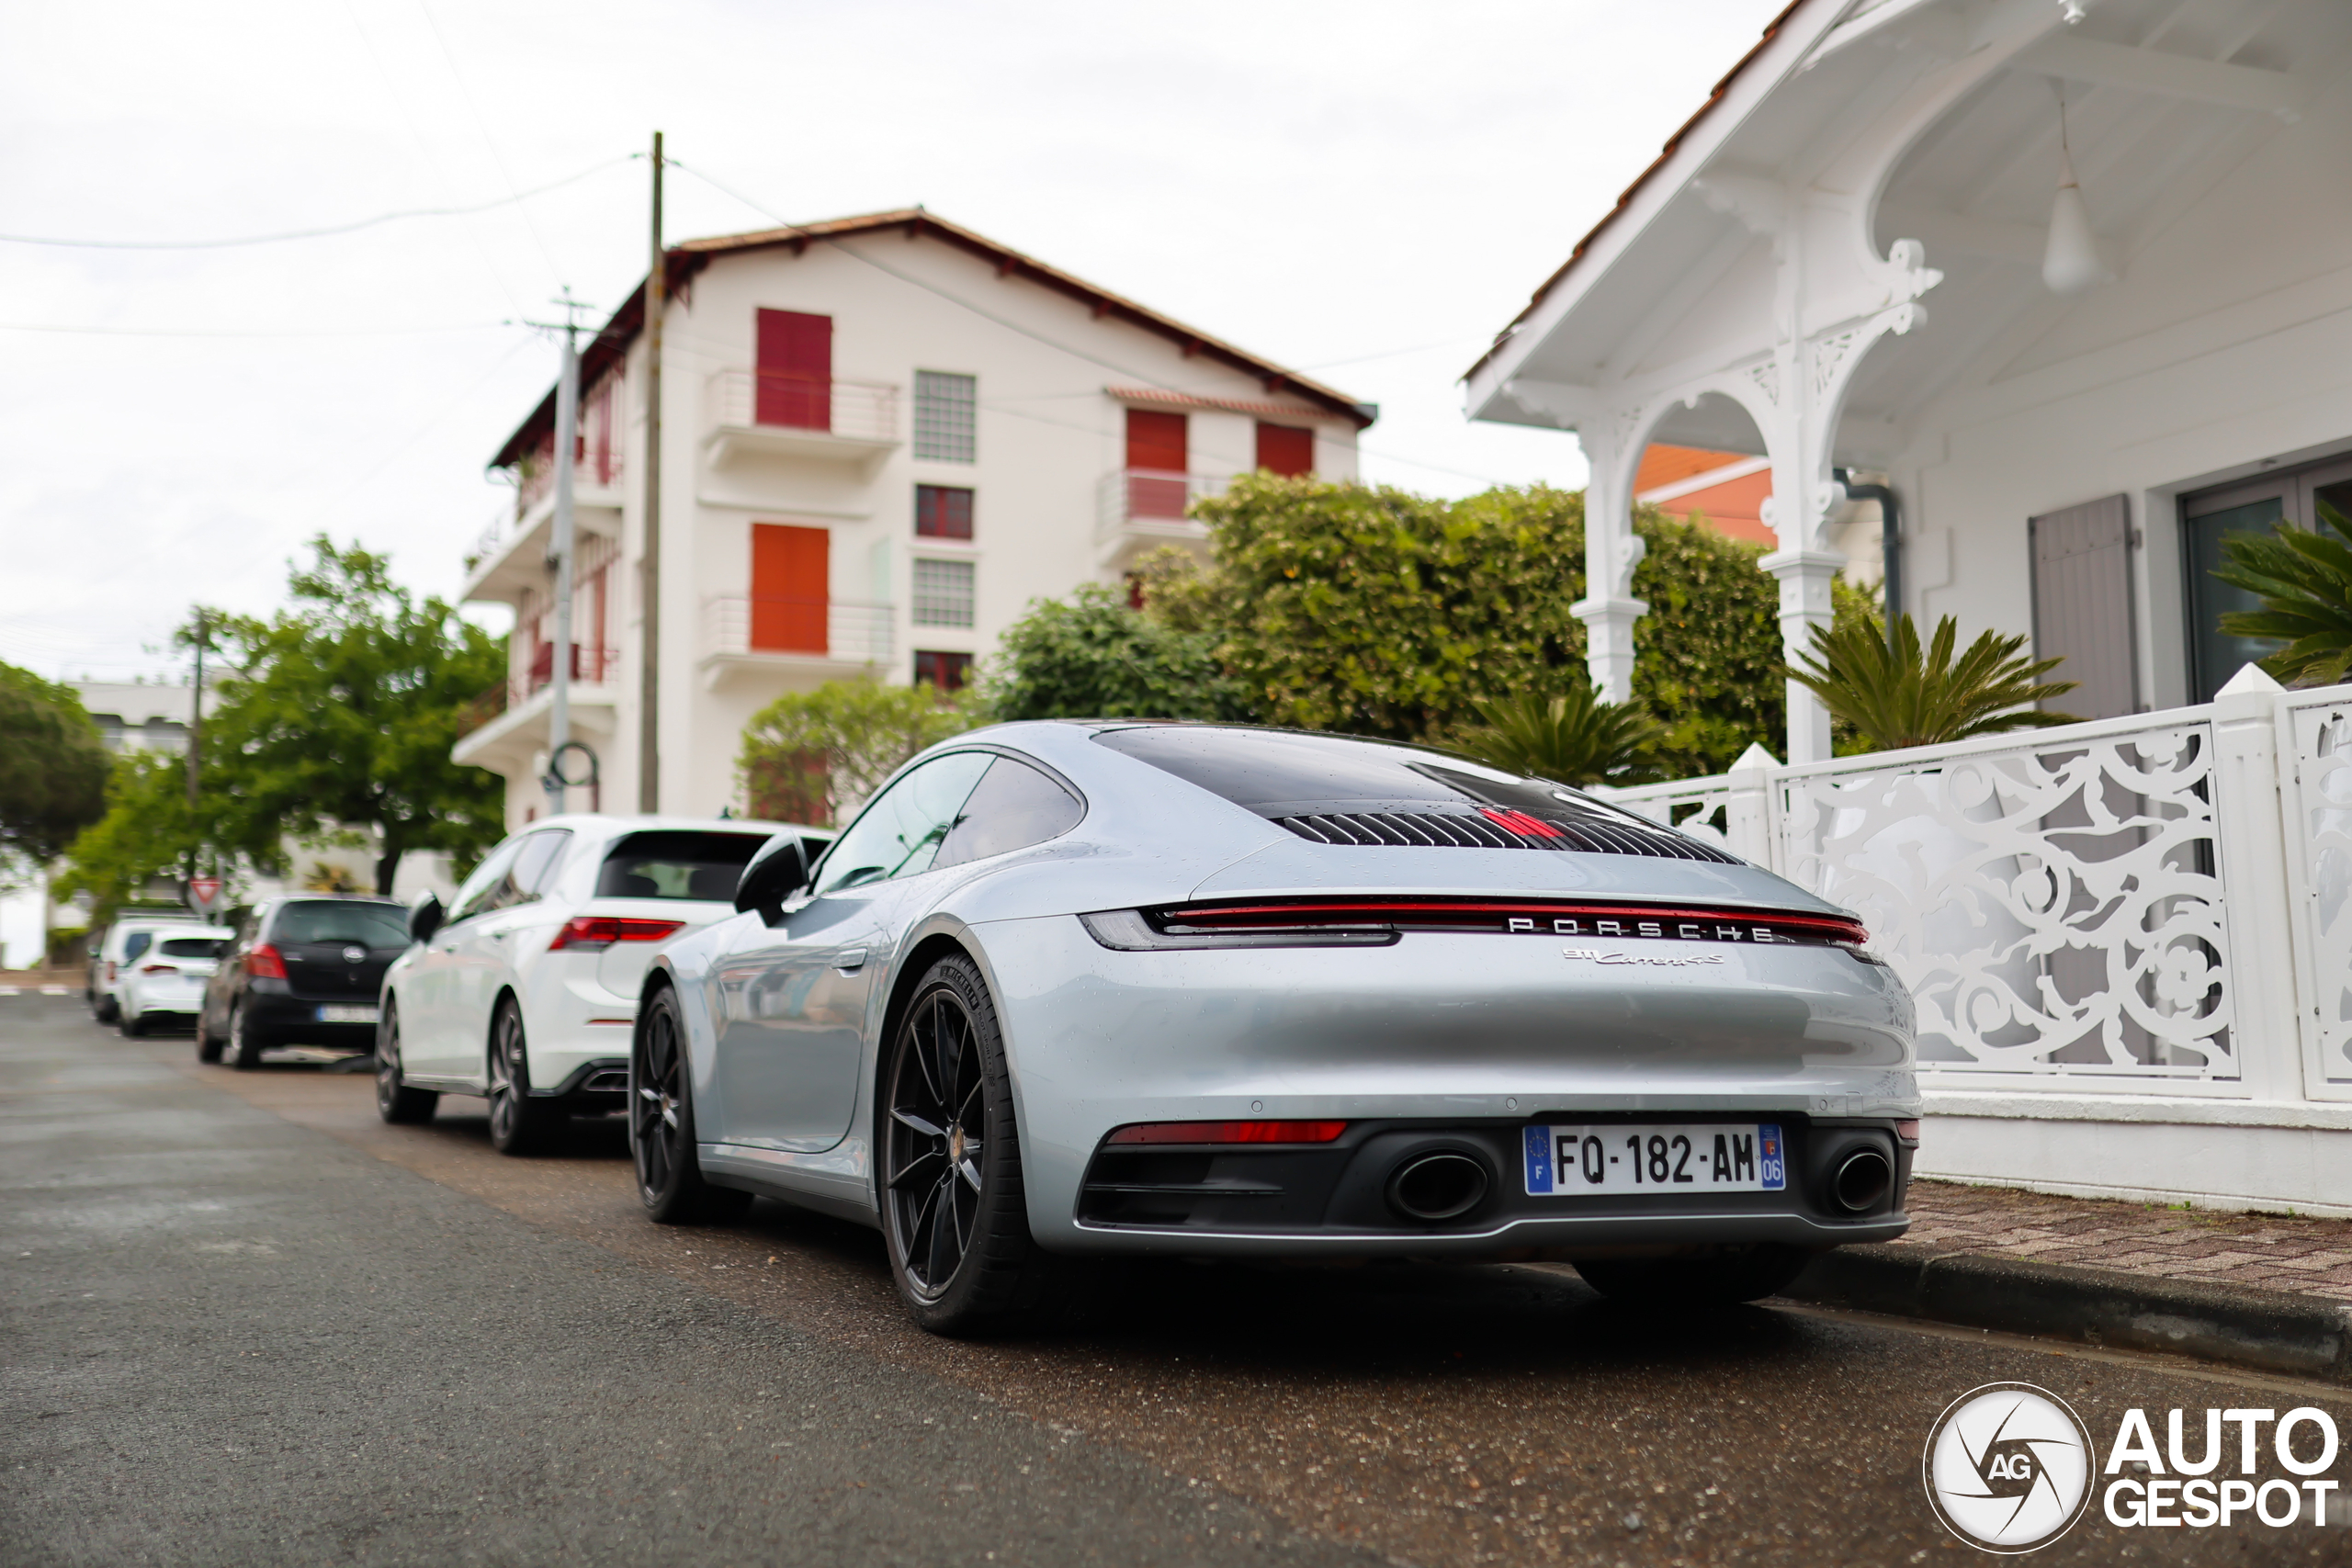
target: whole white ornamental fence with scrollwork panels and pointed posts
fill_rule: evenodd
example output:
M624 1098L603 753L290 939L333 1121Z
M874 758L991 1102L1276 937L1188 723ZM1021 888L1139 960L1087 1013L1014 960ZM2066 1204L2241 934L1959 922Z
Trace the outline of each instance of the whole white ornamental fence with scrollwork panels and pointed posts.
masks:
M2112 1114L2352 1126L2324 1112L2352 1100L2352 686L2249 665L2204 708L1804 766L1757 748L1604 795L1856 910L1917 997L1931 1110L2166 1095L2211 1114Z

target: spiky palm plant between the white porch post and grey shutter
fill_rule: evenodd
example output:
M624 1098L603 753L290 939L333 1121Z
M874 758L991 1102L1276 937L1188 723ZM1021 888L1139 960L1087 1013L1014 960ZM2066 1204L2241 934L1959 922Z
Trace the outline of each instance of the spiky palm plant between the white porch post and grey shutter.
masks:
M2063 658L2023 658L2025 637L1980 632L1955 661L1957 642L1952 616L1936 623L1924 654L1910 616L1896 618L1891 639L1875 621L1846 621L1813 628L1813 651L1797 656L1790 677L1820 696L1832 719L1851 724L1853 750L1865 752L2079 724L2067 712L2027 708L2079 684L2042 682Z

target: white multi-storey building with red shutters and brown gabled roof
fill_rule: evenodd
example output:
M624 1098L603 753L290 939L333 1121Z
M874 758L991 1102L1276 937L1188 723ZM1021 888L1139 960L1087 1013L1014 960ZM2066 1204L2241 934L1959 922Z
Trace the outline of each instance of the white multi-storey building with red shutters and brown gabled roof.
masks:
M1185 508L1235 475L1355 477L1376 414L922 209L689 240L668 289L649 792L642 289L581 369L572 733L612 811L741 806L779 693L960 686L1033 599L1207 548ZM492 458L515 503L463 590L515 635L454 757L506 776L517 825L546 809L553 449L550 390Z

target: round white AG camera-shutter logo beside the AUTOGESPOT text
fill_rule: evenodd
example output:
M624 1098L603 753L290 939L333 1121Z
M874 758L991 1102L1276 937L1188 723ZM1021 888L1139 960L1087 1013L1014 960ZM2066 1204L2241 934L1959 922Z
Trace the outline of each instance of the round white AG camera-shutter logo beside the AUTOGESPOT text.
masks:
M2032 1382L1987 1382L1936 1418L1926 1500L1952 1535L1997 1554L2039 1552L2091 1505L2091 1429Z

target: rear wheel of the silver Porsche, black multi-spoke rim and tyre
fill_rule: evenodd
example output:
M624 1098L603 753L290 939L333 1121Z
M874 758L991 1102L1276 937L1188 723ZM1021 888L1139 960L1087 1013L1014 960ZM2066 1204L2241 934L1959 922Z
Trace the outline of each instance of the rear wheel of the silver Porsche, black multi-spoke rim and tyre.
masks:
M922 976L884 1084L882 1237L915 1324L976 1335L1075 1319L1094 1269L1030 1237L1004 1034L964 954Z

